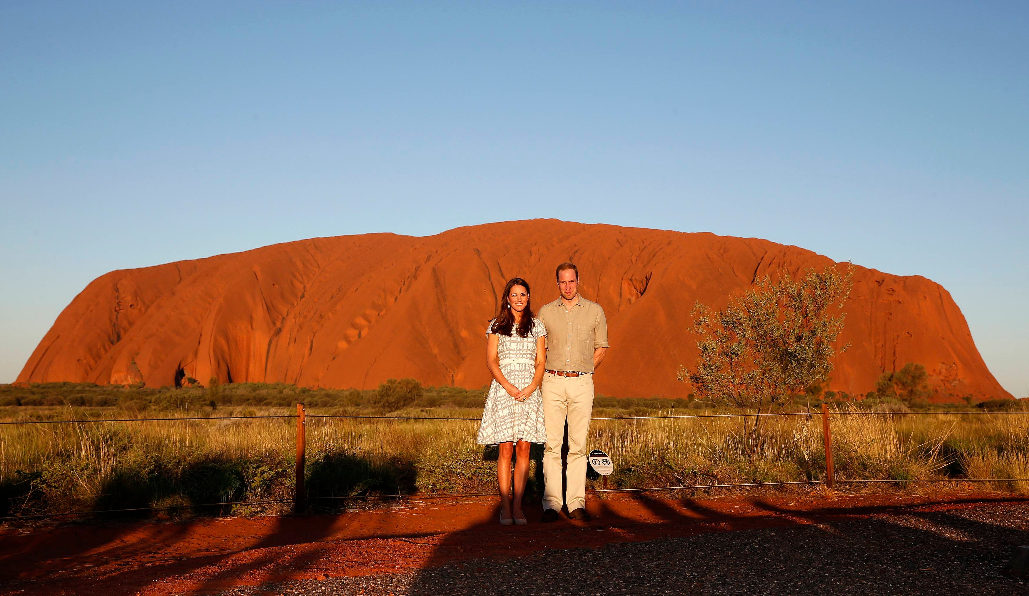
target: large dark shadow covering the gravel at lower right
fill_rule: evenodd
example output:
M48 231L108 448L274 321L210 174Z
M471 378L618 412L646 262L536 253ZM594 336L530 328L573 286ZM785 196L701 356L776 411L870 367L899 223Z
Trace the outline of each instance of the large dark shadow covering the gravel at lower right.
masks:
M439 593L446 586L448 593L499 594L517 586L519 593L576 594L1006 594L1021 590L1000 572L1008 549L1029 539L1024 522L1006 521L1024 519L1024 499L955 499L996 510L920 511L923 505L913 504L802 512L756 498L759 511L803 518L756 524L750 523L751 507L734 514L695 499L629 500L663 528L713 526L598 546L592 536L602 526L623 529L635 520L619 517L615 503L591 499L588 509L600 515L586 525L484 523L455 532L415 574L407 593ZM525 544L533 539L552 548Z

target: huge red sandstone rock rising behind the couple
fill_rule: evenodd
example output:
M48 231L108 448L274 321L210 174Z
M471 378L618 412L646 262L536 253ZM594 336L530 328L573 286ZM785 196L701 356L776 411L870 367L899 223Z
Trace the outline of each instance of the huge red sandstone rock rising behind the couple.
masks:
M680 363L697 301L724 306L756 277L832 261L793 246L557 220L459 227L425 238L318 238L138 270L91 283L61 313L19 381L173 385L284 382L370 388L489 382L485 328L504 282L558 296L554 269L579 267L608 317L600 393L683 396ZM884 371L922 363L946 392L1009 396L980 356L950 294L925 278L856 268L830 387L863 393Z

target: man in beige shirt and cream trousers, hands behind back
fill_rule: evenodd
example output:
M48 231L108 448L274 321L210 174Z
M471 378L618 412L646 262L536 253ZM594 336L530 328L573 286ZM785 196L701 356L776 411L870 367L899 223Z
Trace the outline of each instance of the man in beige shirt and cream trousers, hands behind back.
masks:
M558 519L562 500L568 517L587 521L586 436L593 416L593 373L607 353L607 319L604 309L578 293L578 269L558 266L561 297L539 310L546 327L546 363L543 373L543 519ZM561 447L568 422L568 489L561 494ZM564 498L562 498L564 497Z

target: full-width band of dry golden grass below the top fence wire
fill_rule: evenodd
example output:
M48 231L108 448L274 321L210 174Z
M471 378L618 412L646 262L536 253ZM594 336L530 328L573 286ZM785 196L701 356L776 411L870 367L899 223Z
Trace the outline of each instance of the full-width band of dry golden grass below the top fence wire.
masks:
M237 409L217 414L288 412ZM453 408L407 414L441 412L450 417L480 414ZM832 417L840 480L903 485L921 479L1029 478L1029 415L845 412L852 414ZM697 411L653 412L676 413ZM56 418L85 414L97 417L99 412L69 408L50 413ZM476 430L473 421L309 418L309 494L490 492L495 487L496 450L475 445ZM291 419L4 425L0 506L3 515L24 516L286 500L293 492L294 441ZM818 415L768 418L766 439L753 456L747 453L740 418L598 420L591 427L589 446L614 460L612 488L819 481L825 469ZM540 487L540 452L534 450L530 490ZM993 488L1025 493L1029 482L1001 482ZM246 514L286 507L199 511Z

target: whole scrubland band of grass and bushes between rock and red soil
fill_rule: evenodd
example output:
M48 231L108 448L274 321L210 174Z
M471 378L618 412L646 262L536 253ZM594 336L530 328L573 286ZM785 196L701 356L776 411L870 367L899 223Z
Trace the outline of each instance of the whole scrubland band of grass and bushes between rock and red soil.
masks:
M398 493L490 492L496 448L474 443L477 422L318 418L382 415L369 391L305 390L286 385L208 389L107 388L50 384L0 387L0 419L199 417L189 421L0 425L0 517L77 511L172 507L158 515L284 512L293 495L295 421L210 419L290 415L308 405L307 492L314 509L350 506ZM476 418L485 392L426 388L389 416ZM21 405L19 405L21 404ZM1018 405L1017 408L1021 408ZM902 405L833 406L837 480L1029 479L1029 414L904 415ZM804 412L803 406L786 411ZM877 412L876 415L861 414ZM749 454L740 418L657 418L736 414L724 407L668 399L598 397L589 447L615 463L610 488L822 480L819 415L766 419L761 447ZM541 483L533 450L530 491ZM953 484L951 484L953 482ZM599 486L595 479L593 486ZM862 485L842 485L857 490ZM1029 482L983 488L1029 492ZM685 489L710 494L728 489ZM782 489L787 490L787 489ZM282 501L241 503L240 501ZM197 506L204 503L230 503ZM154 515L141 513L140 515Z

